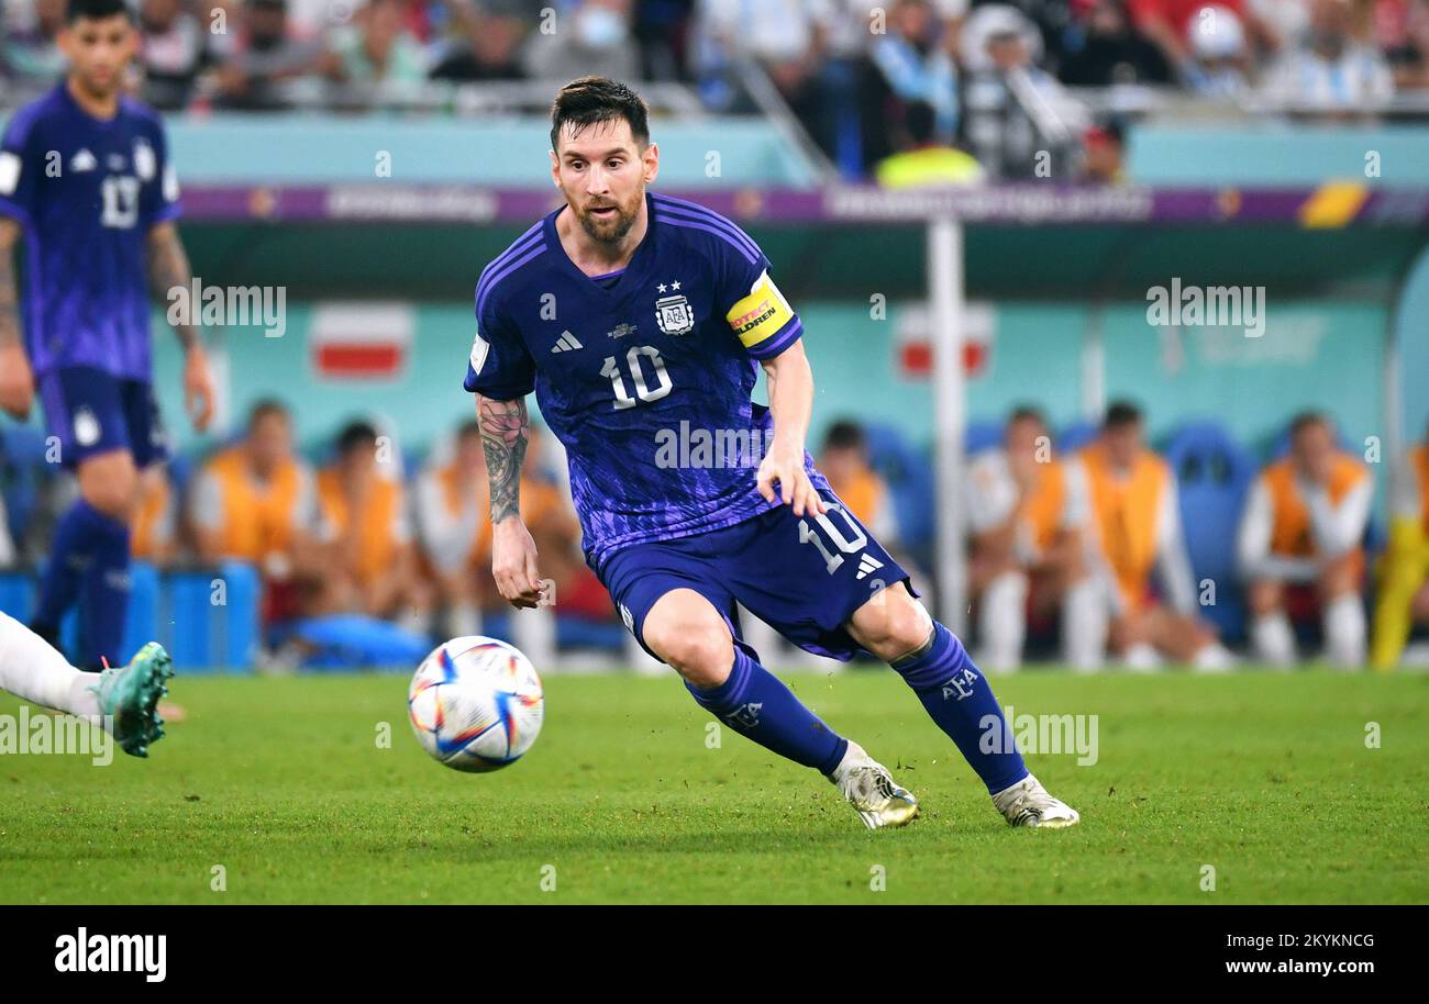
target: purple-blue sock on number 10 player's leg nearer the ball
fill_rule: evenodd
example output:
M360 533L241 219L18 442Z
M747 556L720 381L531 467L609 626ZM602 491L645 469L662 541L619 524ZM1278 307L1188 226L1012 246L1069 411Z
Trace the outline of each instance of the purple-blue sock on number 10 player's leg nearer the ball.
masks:
M849 740L819 721L779 677L739 646L729 680L712 690L684 686L700 707L745 738L822 774L832 774L849 748Z

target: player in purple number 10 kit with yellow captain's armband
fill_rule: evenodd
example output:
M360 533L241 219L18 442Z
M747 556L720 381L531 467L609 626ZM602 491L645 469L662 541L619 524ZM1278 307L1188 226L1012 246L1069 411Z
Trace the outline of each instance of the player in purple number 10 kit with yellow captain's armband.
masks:
M962 643L805 451L803 326L755 241L702 206L647 191L659 149L624 84L563 87L550 139L566 204L482 273L466 374L502 596L516 607L540 600L517 498L534 391L566 446L586 560L626 627L700 706L825 774L870 828L917 814L887 768L759 664L740 604L807 651L887 661L1010 824L1077 823L1027 771ZM750 400L760 367L769 407ZM980 743L990 730L997 741Z

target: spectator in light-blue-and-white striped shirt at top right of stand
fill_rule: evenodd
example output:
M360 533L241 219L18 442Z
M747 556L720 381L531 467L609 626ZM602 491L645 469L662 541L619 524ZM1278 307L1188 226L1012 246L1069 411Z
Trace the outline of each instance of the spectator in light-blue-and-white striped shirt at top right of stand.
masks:
M1385 56L1353 34L1349 0L1310 0L1309 34L1286 49L1265 80L1266 100L1292 114L1358 117L1395 96Z

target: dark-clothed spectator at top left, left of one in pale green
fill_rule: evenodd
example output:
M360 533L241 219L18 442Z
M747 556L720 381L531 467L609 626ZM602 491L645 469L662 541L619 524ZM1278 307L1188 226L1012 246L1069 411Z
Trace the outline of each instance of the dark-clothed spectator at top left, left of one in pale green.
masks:
M287 0L246 0L231 51L217 70L216 103L226 109L273 110L293 103L293 87L316 73L323 56L317 39L290 23Z

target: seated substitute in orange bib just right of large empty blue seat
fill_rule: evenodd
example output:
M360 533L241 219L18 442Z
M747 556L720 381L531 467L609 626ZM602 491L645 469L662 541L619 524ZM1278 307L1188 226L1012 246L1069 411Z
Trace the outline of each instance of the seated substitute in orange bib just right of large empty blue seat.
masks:
M1236 540L1260 661L1290 666L1295 631L1288 611L1318 604L1330 661L1363 664L1362 541L1373 491L1365 464L1336 447L1328 418L1306 413L1290 423L1290 451L1250 488Z

